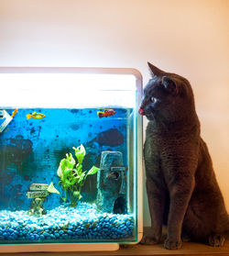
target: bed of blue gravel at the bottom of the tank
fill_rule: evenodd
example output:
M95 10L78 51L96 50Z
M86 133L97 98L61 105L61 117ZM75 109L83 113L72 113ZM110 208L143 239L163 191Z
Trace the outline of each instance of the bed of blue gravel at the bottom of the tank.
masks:
M42 217L27 211L0 211L0 243L81 242L128 239L134 235L132 214L98 213L94 204L59 206Z

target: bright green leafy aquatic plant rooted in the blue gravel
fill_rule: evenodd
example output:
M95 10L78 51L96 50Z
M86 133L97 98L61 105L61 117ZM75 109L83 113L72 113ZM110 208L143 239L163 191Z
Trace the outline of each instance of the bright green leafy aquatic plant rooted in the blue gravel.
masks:
M71 206L77 206L78 201L82 198L82 186L85 184L87 176L97 173L99 168L93 165L90 171L82 171L82 161L86 150L83 145L72 149L75 150L77 162L71 153L66 154L66 158L60 161L57 174L60 177L60 184L64 191L63 201L67 202L69 192Z

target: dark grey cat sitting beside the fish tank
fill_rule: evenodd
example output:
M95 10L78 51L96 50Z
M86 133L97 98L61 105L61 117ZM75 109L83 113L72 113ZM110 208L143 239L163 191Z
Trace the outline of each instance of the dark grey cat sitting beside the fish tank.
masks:
M164 223L166 249L179 249L181 235L222 246L229 218L200 136L191 84L178 74L148 66L152 79L139 113L149 120L144 157L151 229L142 243L158 243Z

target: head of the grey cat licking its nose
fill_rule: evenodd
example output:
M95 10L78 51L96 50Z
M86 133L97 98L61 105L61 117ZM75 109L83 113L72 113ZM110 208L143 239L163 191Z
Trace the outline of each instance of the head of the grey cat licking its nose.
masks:
M152 78L144 88L139 114L148 120L157 117L165 121L176 121L186 111L194 107L194 99L189 81L178 74L164 72L148 62Z

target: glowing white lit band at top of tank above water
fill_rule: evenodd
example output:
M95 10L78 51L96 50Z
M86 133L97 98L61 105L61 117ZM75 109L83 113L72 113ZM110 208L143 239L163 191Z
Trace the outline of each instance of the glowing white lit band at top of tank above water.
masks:
M31 68L26 72L25 69L5 72L0 68L1 95L4 95L1 108L134 107L136 104L138 88L133 73L77 73L77 69L31 72Z

